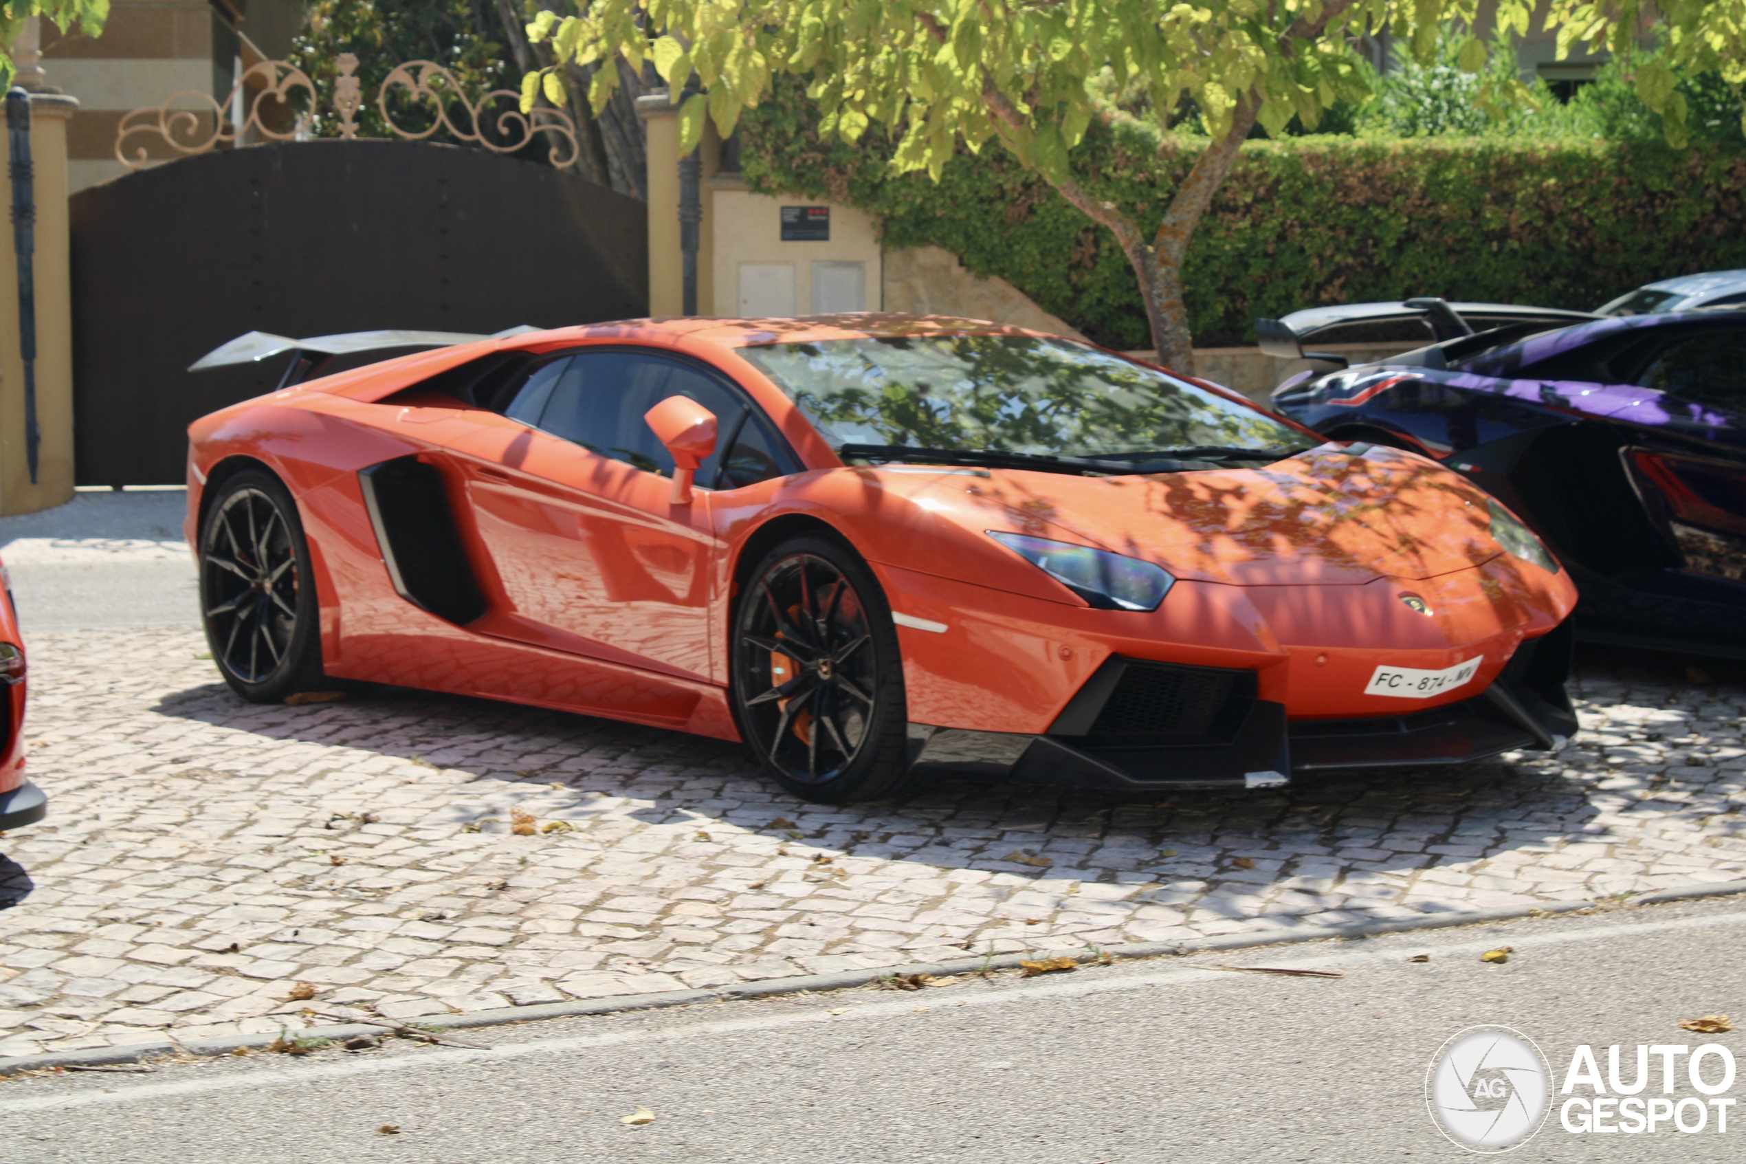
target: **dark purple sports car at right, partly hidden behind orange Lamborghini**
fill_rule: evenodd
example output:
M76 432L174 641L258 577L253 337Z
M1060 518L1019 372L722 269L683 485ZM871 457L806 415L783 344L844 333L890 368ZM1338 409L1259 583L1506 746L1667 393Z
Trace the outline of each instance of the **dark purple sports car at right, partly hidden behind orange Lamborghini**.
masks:
M1746 658L1746 311L1523 319L1351 368L1259 330L1316 365L1275 408L1425 454L1523 515L1582 592L1578 637Z

